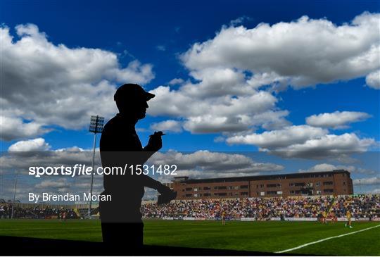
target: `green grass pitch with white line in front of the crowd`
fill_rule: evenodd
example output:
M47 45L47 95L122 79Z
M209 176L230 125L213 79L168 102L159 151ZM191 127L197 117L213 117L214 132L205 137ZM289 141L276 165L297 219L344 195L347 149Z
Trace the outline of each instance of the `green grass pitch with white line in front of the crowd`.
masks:
M242 222L145 220L144 244L276 252L319 239L355 232L380 222ZM0 220L0 236L101 242L99 220ZM380 256L380 227L305 246L288 253Z

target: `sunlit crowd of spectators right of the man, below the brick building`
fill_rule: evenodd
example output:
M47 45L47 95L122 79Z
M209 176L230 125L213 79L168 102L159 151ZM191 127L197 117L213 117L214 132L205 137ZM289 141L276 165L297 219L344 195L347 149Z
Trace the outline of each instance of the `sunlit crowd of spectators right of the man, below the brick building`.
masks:
M322 212L346 217L350 210L354 218L380 218L380 196L320 196L298 198L244 198L172 201L158 206L141 206L144 218L318 218Z

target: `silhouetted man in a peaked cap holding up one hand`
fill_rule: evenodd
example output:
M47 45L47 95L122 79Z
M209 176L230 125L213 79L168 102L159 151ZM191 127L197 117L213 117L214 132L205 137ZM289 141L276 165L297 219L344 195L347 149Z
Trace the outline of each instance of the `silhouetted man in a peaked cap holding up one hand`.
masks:
M153 178L136 175L136 165L144 164L162 147L162 132L151 135L148 145L141 146L134 126L145 118L146 103L155 95L146 92L138 84L123 84L115 93L114 100L119 113L104 126L101 142L101 163L105 167L127 165L124 175L104 175L102 194L110 194L112 201L101 201L100 216L103 242L113 246L139 247L143 244L141 199L144 187L158 190L167 199L174 199L175 192ZM133 170L130 166L133 166ZM132 175L133 171L133 175ZM125 246L128 246L127 248Z

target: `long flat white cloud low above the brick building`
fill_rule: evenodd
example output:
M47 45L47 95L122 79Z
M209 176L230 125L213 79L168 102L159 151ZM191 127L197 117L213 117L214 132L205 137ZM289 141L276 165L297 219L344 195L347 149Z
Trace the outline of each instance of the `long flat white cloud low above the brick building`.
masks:
M367 151L376 143L374 139L360 139L354 133L328 134L328 130L309 125L284 127L261 134L236 135L227 138L226 142L253 144L259 146L260 151L275 151L281 156L302 158L332 157L332 152L344 157L345 152Z

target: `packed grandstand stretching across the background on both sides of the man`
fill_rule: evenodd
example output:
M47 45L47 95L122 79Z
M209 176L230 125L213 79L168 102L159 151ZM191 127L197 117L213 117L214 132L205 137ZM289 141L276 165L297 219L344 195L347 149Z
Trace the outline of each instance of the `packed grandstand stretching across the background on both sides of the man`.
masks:
M224 212L227 220L317 220L323 211L344 219L347 209L357 220L380 220L380 195L175 200L161 206L148 201L141 213L146 219L219 220ZM65 212L67 218L75 219L86 217L88 206L15 203L14 210L14 218L56 219ZM99 216L99 206L94 206L91 215ZM0 218L11 218L11 203L0 203Z

